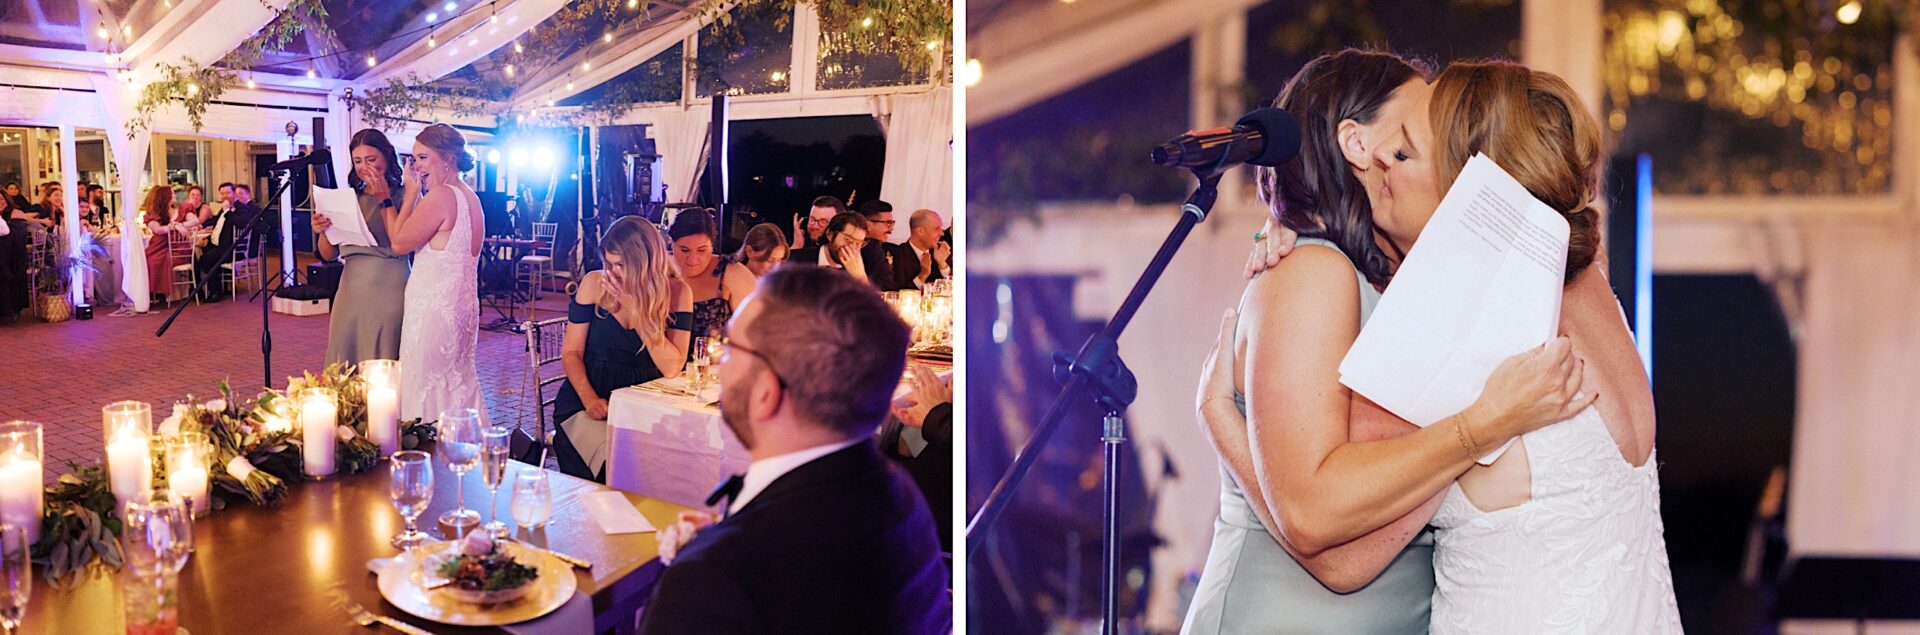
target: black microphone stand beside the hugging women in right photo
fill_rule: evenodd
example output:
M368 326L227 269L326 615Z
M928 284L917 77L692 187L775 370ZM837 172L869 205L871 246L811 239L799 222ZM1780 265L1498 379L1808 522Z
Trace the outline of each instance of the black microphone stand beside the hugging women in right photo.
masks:
M1206 221L1208 213L1213 209L1213 201L1219 198L1215 190L1219 186L1219 176L1227 171L1223 165L1210 165L1206 169L1194 169L1194 176L1200 184L1194 188L1187 203L1181 205L1181 219L1173 224L1173 232L1167 240L1160 244L1160 251L1154 259L1146 263L1146 270L1140 272L1140 280L1135 282L1133 290L1127 292L1127 299L1121 301L1119 311L1114 318L1100 328L1098 334L1087 338L1087 343L1079 349L1079 355L1068 357L1066 353L1054 353L1054 380L1064 382L1054 403L1046 407L1046 414L1041 418L1041 428L1033 432L1027 445L1020 449L1014 457L1014 466L1000 476L1000 482L993 485L987 493L985 505L973 512L973 520L966 528L966 553L972 560L981 545L987 543L987 535L993 529L995 520L1006 512L1012 503L1020 482L1033 468L1041 451L1046 449L1046 439L1066 418L1068 407L1087 391L1092 391L1092 401L1106 416L1102 416L1100 443L1106 449L1106 466L1102 476L1102 520L1106 545L1102 547L1102 579L1100 579L1100 608L1102 623L1100 633L1114 635L1119 629L1119 451L1127 443L1127 428L1119 412L1133 403L1139 384L1133 378L1133 370L1119 359L1119 334L1127 330L1133 322L1133 315L1139 313L1140 305L1146 301L1146 294L1154 290L1160 282L1160 274L1165 272L1167 265L1173 261L1173 253L1181 249L1187 242L1187 234L1192 232L1200 221Z

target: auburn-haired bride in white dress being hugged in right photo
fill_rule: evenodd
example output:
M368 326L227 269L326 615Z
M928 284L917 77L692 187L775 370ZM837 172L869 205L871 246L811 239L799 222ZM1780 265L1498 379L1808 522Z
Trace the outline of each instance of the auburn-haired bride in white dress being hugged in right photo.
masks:
M1448 67L1415 111L1427 117L1407 117L1375 150L1386 175L1373 219L1388 244L1411 251L1461 169L1486 153L1569 221L1557 326L1582 361L1594 361L1580 382L1611 395L1526 434L1446 489L1432 518L1432 631L1678 633L1653 395L1607 284L1590 207L1597 125L1559 77L1507 61ZM1233 418L1217 409L1208 416ZM1231 424L1212 428L1221 445L1244 441Z

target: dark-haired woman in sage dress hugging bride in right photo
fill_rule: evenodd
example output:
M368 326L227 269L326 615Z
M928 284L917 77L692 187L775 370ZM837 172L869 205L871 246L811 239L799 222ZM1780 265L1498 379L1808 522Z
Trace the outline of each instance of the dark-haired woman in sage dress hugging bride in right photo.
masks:
M1413 63L1342 50L1308 61L1275 100L1300 119L1300 155L1260 169L1258 184L1300 240L1248 284L1204 372L1221 510L1187 633L1427 633L1440 495L1475 447L1565 418L1565 345L1509 359L1478 403L1428 428L1338 384L1398 259L1375 240L1373 205L1392 196L1371 152L1425 92Z

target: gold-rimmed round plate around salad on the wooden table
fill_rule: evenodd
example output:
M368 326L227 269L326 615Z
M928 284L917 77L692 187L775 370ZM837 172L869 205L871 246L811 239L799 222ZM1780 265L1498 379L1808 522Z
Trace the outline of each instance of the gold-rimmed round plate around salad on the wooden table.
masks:
M493 606L461 602L451 593L444 593L444 589L428 591L424 572L420 570L422 560L451 545L436 543L419 547L413 554L399 556L399 564L380 570L380 597L422 620L451 625L505 625L559 610L574 597L574 589L578 587L574 570L566 562L516 543L499 543L515 560L540 570L540 577L532 581L532 589L524 597L513 602Z

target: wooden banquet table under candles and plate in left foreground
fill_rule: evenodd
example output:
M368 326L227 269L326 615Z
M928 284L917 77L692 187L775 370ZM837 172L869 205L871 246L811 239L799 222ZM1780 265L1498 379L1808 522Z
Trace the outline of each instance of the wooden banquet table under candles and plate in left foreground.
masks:
M434 499L420 514L422 531L438 535L436 518L453 508L453 474L434 459ZM507 497L515 474L534 466L511 462L501 485L499 518L513 526ZM653 593L662 566L657 533L601 533L588 516L580 493L607 487L559 472L547 472L553 485L553 522L541 531L515 529L530 545L551 547L593 562L574 568L580 593L593 602L595 631L630 631L634 612ZM499 633L497 627L455 627L426 622L388 604L380 597L367 560L399 551L388 539L405 522L388 503L388 470L378 464L367 474L324 482L294 483L276 508L246 503L228 505L194 522L194 554L180 570L179 620L182 633L392 633L361 627L348 618L336 597L434 633ZM626 495L655 528L674 522L684 506ZM467 474L467 506L488 512L488 489L478 470ZM121 579L127 574L94 574L75 589L52 589L35 572L33 600L19 633L121 633L125 629Z

